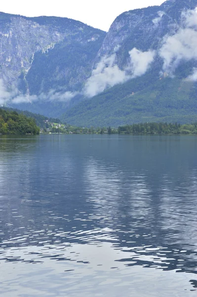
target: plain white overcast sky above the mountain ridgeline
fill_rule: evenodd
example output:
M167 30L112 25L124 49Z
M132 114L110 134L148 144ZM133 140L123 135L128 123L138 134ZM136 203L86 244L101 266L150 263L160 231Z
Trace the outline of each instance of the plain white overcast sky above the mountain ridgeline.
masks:
M0 0L0 11L25 16L53 15L79 20L105 31L122 12L165 0Z

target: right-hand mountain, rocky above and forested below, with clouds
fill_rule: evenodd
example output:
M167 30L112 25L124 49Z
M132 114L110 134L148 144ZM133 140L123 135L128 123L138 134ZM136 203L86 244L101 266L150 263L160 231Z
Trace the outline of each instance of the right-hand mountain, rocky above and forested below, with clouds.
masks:
M109 84L103 93L67 110L61 118L86 126L197 120L196 6L197 0L169 0L118 16L97 54L95 67L104 57L115 56L113 67L118 67L118 74L125 74L134 48L142 54L133 68L140 65L144 53L153 52L154 58L144 72L134 71L114 87ZM108 73L109 67L115 69L105 67Z

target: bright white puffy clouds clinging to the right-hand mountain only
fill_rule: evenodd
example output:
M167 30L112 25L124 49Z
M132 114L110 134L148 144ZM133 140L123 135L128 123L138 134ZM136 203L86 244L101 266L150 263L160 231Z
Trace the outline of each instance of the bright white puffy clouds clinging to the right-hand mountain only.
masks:
M158 17L153 19L156 26L164 14L163 11L158 11ZM163 72L171 76L182 60L197 60L197 8L183 11L181 18L182 25L178 32L173 36L165 36L157 51L150 49L143 52L136 48L131 49L129 61L123 69L118 67L116 50L111 56L103 57L86 81L83 94L93 97L116 84L144 75L156 55L163 59ZM197 80L196 68L188 79Z

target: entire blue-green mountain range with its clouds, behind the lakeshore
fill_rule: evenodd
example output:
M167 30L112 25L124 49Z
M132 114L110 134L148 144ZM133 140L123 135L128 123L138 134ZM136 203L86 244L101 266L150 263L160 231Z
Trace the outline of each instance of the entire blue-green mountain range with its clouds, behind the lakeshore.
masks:
M126 11L108 33L0 13L0 104L77 126L197 121L196 7Z

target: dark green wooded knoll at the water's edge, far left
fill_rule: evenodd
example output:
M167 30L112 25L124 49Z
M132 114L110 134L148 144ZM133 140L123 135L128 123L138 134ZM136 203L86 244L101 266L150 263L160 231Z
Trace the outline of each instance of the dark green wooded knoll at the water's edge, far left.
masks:
M0 108L0 134L39 134L33 118Z

